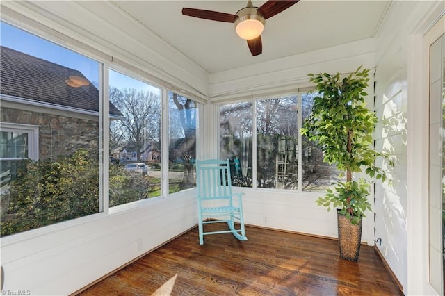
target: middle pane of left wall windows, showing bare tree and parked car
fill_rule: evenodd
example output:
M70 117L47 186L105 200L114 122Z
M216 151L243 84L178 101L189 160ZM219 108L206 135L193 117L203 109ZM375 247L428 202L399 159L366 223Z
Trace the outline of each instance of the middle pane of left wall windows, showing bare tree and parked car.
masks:
M161 195L161 90L110 70L110 206Z

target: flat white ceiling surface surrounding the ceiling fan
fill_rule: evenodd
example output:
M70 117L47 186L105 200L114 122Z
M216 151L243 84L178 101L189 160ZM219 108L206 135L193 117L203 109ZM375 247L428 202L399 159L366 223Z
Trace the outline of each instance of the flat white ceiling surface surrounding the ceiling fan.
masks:
M261 6L266 1L252 1ZM113 1L209 74L373 38L390 1L302 0L266 20L263 53L252 56L234 24L182 15L183 7L235 14L247 1ZM102 16L104 17L104 16Z

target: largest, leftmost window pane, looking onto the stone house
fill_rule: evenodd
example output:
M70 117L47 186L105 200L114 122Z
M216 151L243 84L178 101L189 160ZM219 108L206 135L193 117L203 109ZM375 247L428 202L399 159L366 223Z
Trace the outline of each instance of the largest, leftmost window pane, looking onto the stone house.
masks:
M97 213L99 63L3 22L0 54L2 123L39 126L0 127L1 158L33 155L1 161L1 236Z

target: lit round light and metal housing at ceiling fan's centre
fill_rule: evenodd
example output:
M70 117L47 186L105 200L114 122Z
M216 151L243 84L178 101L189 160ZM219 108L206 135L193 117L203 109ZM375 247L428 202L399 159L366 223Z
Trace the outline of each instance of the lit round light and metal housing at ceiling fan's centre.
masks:
M248 6L238 10L235 19L235 31L239 37L245 40L257 38L264 30L266 21L258 12L258 8Z

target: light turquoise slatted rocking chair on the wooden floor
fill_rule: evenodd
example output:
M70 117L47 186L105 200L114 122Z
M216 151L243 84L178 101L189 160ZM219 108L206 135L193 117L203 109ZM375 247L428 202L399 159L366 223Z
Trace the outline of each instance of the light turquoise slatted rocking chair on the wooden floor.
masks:
M238 240L248 240L241 202L243 193L232 193L229 159L196 161L196 189L200 245L204 245L204 236L208 234L232 233ZM235 228L235 220L239 223L238 229ZM229 229L204 231L204 224L221 222L227 223Z

